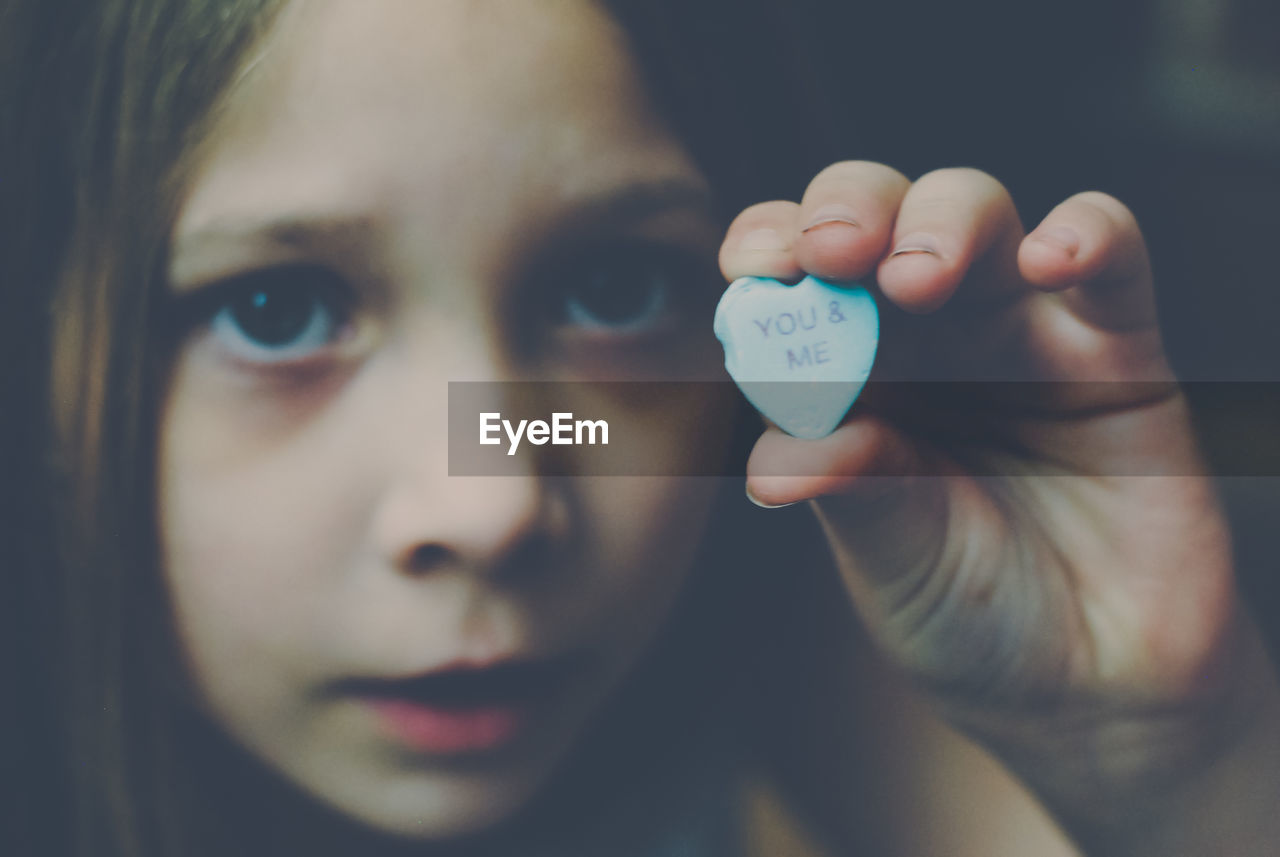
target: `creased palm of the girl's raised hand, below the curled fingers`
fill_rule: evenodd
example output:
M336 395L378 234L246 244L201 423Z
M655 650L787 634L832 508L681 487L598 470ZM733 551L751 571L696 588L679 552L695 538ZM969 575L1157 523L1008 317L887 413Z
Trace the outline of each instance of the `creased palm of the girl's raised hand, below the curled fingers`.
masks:
M942 311L916 322L928 349L904 348L941 358L908 371L1002 380L947 385L941 411L890 385L915 400L847 427L904 473L818 501L845 579L893 659L961 706L1176 702L1231 619L1231 570L1155 327L1085 322L1062 295L1004 315L948 336ZM948 358L952 338L986 348Z

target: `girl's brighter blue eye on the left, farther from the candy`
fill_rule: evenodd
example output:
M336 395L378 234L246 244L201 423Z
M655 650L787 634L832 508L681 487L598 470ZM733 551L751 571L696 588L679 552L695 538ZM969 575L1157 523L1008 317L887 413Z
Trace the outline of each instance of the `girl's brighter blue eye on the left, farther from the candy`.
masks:
M349 299L332 271L284 266L237 276L195 295L209 334L232 357L253 363L306 359L347 326Z

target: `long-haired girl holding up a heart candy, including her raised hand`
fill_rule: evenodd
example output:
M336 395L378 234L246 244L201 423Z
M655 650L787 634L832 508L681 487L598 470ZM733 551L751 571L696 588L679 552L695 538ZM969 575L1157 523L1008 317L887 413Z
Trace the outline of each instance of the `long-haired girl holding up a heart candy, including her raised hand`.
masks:
M677 134L690 111L654 93L678 58L650 46L652 91L632 59L645 14L9 9L27 86L4 160L32 206L9 317L52 320L27 338L46 384L14 393L51 411L18 462L51 512L22 533L17 640L42 656L19 661L38 738L19 847L740 852L751 744L814 770L796 724L815 701L771 705L755 669L795 673L782 643L822 640L788 615L835 604L806 577L815 533L744 524L692 477L562 480L531 455L451 477L443 413L451 381L713 376L718 252L728 279L874 274L928 315L887 331L909 377L1140 382L1019 397L928 445L891 411L822 441L771 430L748 490L822 498L876 645L1084 847L1261 853L1275 684L1126 210L1084 194L1027 237L984 174L847 161L724 234L751 152ZM732 446L728 397L654 412L566 389L567 409L641 421L635 454L667 472ZM970 420L1005 440L961 444ZM1064 475L1009 476L1046 462ZM877 741L833 720L810 750ZM891 853L850 807L859 765L827 761L849 803L813 801L818 829Z

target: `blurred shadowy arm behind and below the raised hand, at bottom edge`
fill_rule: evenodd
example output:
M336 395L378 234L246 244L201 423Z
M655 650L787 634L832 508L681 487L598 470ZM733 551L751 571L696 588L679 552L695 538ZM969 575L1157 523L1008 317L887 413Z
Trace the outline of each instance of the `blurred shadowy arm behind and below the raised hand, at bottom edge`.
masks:
M826 563L790 582L750 709L763 767L753 854L1078 857L1028 790L873 650Z

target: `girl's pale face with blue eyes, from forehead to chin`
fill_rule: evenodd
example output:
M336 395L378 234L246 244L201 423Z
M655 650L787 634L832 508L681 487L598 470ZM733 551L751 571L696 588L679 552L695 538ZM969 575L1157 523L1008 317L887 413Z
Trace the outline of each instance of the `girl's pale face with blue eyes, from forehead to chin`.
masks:
M586 0L287 8L169 271L164 568L212 720L384 831L527 801L666 615L712 481L449 477L447 384L713 375L718 239ZM627 418L594 389L580 416ZM723 402L663 407L636 453L669 472L727 436Z

